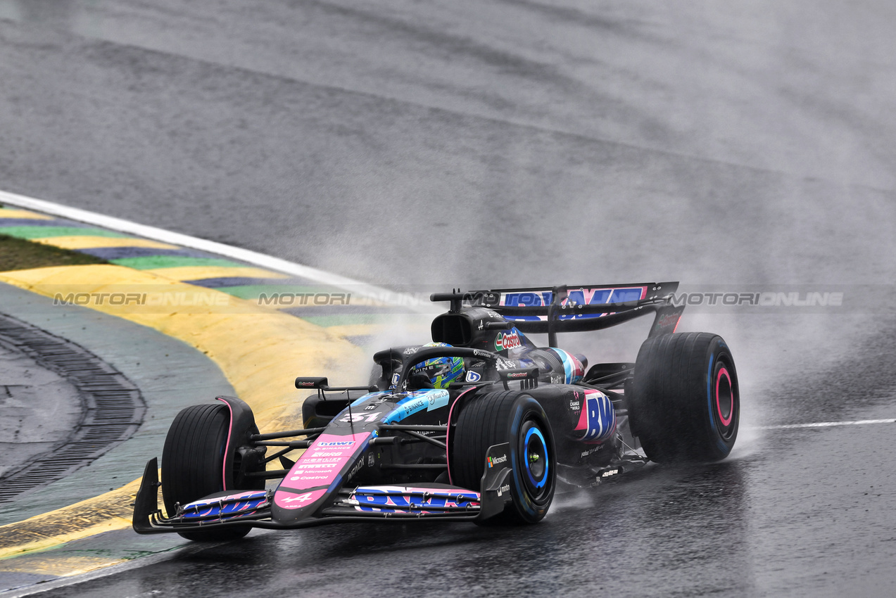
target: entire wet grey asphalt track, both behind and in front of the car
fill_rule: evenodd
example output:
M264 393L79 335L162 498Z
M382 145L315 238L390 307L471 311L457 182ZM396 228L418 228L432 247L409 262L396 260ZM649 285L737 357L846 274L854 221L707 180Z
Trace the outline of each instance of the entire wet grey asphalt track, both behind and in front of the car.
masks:
M887 2L0 0L0 188L381 285L885 294L894 23ZM894 424L746 430L896 416L892 299L683 329L737 359L724 463L534 527L255 532L48 595L896 593Z

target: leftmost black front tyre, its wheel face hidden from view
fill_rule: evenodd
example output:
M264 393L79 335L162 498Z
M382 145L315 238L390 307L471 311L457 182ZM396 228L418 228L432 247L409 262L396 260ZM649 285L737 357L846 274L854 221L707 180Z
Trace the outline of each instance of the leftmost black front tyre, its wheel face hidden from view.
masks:
M258 433L253 426L250 433ZM161 483L162 500L168 517L177 511L177 503L185 505L214 492L224 491L221 471L224 468L225 449L230 431L228 407L194 405L182 409L175 417L162 449ZM236 448L233 449L236 453ZM239 466L235 454L235 469ZM242 480L239 488L227 490L263 490L262 478ZM248 525L235 525L224 529L201 532L178 532L195 542L237 540L248 534Z

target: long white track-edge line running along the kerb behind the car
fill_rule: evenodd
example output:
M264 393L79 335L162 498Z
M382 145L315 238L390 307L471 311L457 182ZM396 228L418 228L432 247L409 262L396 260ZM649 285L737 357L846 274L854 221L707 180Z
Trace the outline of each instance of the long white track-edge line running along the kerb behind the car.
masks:
M245 261L254 264L260 268L271 269L291 276L308 278L309 280L321 283L322 285L336 286L340 289L358 293L358 295L364 295L383 303L398 303L411 308L413 308L416 303L419 303L417 299L410 295L396 293L395 291L383 288L382 286L368 285L359 280L346 278L338 274L333 274L332 272L311 268L310 266L303 266L302 264L297 264L293 261L281 260L280 258L265 255L264 253L253 252L248 249L241 249L239 247L233 247L232 245L208 241L190 235L174 233L165 230L164 228L138 224L123 218L104 216L102 214L97 214L96 212L90 212L86 209L64 206L53 201L37 200L33 197L0 191L0 203L24 209L34 209L52 216L77 220L78 222L84 222L95 226L102 226L103 228L108 228L109 230L114 230L119 233L138 235L147 239L152 239L153 241L198 249L202 252L217 253L218 255L232 260Z

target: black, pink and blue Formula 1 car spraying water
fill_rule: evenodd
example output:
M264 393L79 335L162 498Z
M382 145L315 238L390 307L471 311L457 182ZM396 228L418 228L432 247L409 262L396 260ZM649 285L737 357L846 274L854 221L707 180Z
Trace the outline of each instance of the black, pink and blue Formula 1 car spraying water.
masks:
M202 541L347 521L536 523L556 491L648 460L727 457L740 411L734 360L717 335L676 333L677 286L432 295L451 305L432 322L433 343L376 353L368 386L296 379L316 393L300 430L259 433L236 397L177 414L161 483L156 459L146 465L134 530ZM584 356L557 348L558 333L647 313L655 317L634 363L586 372ZM526 336L539 333L547 347ZM297 449L306 450L289 458ZM275 459L280 469L269 468Z

